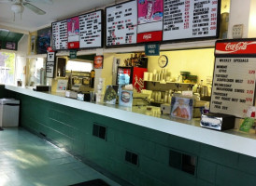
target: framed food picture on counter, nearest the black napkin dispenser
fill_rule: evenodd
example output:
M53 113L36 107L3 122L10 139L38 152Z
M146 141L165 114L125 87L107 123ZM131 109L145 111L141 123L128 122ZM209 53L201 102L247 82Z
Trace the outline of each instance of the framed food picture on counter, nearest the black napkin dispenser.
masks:
M192 119L192 104L190 98L172 97L171 101L171 116L180 119Z

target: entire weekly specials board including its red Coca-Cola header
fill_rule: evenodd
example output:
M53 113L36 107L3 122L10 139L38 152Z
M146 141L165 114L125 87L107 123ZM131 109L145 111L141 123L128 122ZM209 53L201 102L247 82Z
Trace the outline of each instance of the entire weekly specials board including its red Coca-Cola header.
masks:
M245 117L254 103L256 40L223 40L216 44L210 112ZM255 51L255 50L254 50Z

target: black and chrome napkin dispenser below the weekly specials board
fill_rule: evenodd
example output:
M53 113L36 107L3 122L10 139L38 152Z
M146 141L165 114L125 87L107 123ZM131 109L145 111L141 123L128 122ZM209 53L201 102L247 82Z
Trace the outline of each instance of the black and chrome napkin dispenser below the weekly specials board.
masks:
M235 116L223 113L204 113L200 126L215 130L227 130L235 127Z

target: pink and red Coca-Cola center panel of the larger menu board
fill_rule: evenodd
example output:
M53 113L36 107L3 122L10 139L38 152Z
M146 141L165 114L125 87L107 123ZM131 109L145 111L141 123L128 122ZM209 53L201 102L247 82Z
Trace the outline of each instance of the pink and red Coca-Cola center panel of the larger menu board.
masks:
M162 41L163 0L137 1L137 43Z

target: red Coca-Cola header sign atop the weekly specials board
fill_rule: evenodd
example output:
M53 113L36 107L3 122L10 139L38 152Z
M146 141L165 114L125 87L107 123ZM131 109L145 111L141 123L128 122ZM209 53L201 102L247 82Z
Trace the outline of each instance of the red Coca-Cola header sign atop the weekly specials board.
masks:
M215 54L256 54L256 41L220 41L216 43Z

